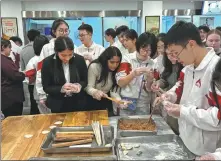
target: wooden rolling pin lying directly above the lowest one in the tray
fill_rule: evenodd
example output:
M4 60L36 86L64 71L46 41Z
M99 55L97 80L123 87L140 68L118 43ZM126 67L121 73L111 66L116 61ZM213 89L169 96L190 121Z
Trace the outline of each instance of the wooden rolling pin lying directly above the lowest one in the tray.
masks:
M71 136L56 136L54 141L75 141L84 139L93 139L93 135L71 135Z

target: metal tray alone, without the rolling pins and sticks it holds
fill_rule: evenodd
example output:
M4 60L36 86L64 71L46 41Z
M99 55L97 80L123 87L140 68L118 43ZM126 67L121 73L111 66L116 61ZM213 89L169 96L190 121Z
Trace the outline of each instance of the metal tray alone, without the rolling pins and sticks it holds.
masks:
M45 153L87 153L87 152L109 152L113 151L114 147L114 128L112 126L103 126L104 138L106 144L111 146L98 146L95 137L91 143L91 147L62 147L52 148L51 144L56 136L57 132L74 132L74 131L93 131L91 126L80 126L80 127L56 127L53 128L47 135L47 138L43 142L41 149Z

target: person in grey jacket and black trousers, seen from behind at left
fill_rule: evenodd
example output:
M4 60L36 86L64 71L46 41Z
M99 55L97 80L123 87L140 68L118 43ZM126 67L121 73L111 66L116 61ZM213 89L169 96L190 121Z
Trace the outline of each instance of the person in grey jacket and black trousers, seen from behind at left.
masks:
M36 36L39 36L40 32L38 30L31 29L28 31L27 37L29 39L29 43L22 49L20 53L20 62L21 62L21 71L24 71L29 60L35 56L33 49L33 42ZM34 84L28 85L28 91L30 95L31 102L31 114L38 114L38 106L36 101L34 100Z

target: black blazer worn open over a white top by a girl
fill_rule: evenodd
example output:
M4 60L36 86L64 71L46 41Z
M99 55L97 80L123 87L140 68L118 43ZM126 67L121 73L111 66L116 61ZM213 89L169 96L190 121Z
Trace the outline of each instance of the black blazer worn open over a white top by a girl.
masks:
M65 96L64 93L61 93L61 88L66 83L64 70L61 61L56 59L59 58L55 54L45 58L41 69L43 90L48 94L46 103L50 109L62 108ZM56 73L55 68L57 68ZM79 83L82 86L81 92L72 96L76 102L73 106L83 108L85 103L84 88L87 86L87 66L84 58L74 54L69 61L69 71L70 83ZM59 78L58 80L56 80L55 74Z

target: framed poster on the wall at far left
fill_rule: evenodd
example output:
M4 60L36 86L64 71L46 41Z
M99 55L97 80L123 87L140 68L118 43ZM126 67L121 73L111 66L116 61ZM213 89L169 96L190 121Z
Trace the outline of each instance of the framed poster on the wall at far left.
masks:
M5 37L18 36L17 18L1 18L2 34Z

